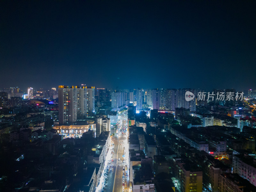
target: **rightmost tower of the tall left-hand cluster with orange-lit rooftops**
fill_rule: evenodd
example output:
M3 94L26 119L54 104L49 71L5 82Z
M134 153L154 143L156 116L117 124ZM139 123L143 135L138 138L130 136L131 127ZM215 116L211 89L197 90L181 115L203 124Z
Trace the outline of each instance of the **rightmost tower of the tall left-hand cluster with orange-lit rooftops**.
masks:
M95 87L86 86L86 104L87 104L87 116L95 115Z

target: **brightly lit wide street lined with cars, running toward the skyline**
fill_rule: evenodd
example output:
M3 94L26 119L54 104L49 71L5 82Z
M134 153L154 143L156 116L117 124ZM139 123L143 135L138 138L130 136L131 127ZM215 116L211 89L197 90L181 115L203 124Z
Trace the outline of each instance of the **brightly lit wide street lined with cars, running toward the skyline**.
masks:
M119 115L116 133L112 137L113 142L109 147L104 172L96 191L130 191L129 168L127 167L129 165L127 117L125 112L120 114L122 118ZM125 120L125 124L123 124L123 120Z

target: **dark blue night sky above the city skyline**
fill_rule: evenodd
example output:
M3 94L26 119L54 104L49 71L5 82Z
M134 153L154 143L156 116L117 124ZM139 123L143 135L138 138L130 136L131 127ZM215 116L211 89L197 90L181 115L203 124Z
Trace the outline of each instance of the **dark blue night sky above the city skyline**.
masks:
M255 10L256 1L1 1L0 87L255 88Z

